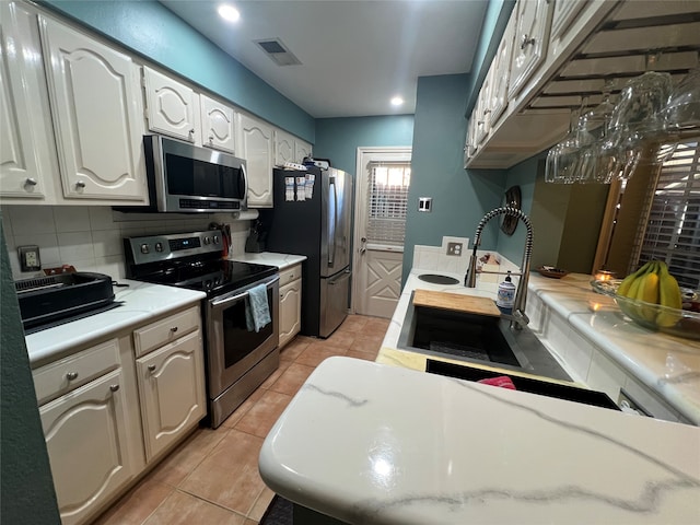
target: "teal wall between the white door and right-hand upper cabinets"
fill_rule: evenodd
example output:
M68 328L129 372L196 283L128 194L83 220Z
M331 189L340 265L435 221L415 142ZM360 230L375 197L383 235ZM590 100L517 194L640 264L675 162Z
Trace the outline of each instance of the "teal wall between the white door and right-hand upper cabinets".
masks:
M418 79L402 281L412 266L415 245L440 246L443 235L472 241L481 218L501 202L503 171L464 168L468 83L467 74ZM432 197L432 212L418 211L419 197ZM497 249L497 231L485 232L483 248Z

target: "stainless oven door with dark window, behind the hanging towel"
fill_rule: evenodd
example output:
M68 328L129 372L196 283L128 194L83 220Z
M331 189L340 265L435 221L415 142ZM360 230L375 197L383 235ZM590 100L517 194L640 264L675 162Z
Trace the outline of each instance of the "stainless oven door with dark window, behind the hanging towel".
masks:
M209 397L215 399L240 380L279 343L279 276L257 281L225 295L212 298L207 304L207 374ZM248 290L267 287L271 323L260 331L248 331L245 310Z

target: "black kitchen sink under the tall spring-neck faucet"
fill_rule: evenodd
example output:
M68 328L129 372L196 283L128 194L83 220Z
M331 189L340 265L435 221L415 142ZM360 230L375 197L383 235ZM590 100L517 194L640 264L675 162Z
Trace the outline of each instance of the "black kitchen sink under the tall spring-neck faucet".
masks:
M571 377L529 328L504 317L410 306L398 348L562 381Z

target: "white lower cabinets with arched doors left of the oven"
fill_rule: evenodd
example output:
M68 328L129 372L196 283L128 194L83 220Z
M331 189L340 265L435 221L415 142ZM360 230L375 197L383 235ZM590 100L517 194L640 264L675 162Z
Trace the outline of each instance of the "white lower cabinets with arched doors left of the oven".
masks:
M32 372L63 525L94 520L206 415L199 306L90 345Z

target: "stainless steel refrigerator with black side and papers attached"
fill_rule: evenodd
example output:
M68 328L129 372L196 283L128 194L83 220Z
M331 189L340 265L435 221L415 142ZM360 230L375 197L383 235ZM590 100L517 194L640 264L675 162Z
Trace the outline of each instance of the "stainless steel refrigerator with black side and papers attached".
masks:
M260 212L265 249L307 257L302 264L301 332L328 337L348 315L352 176L310 167L275 170L273 177L275 206Z

